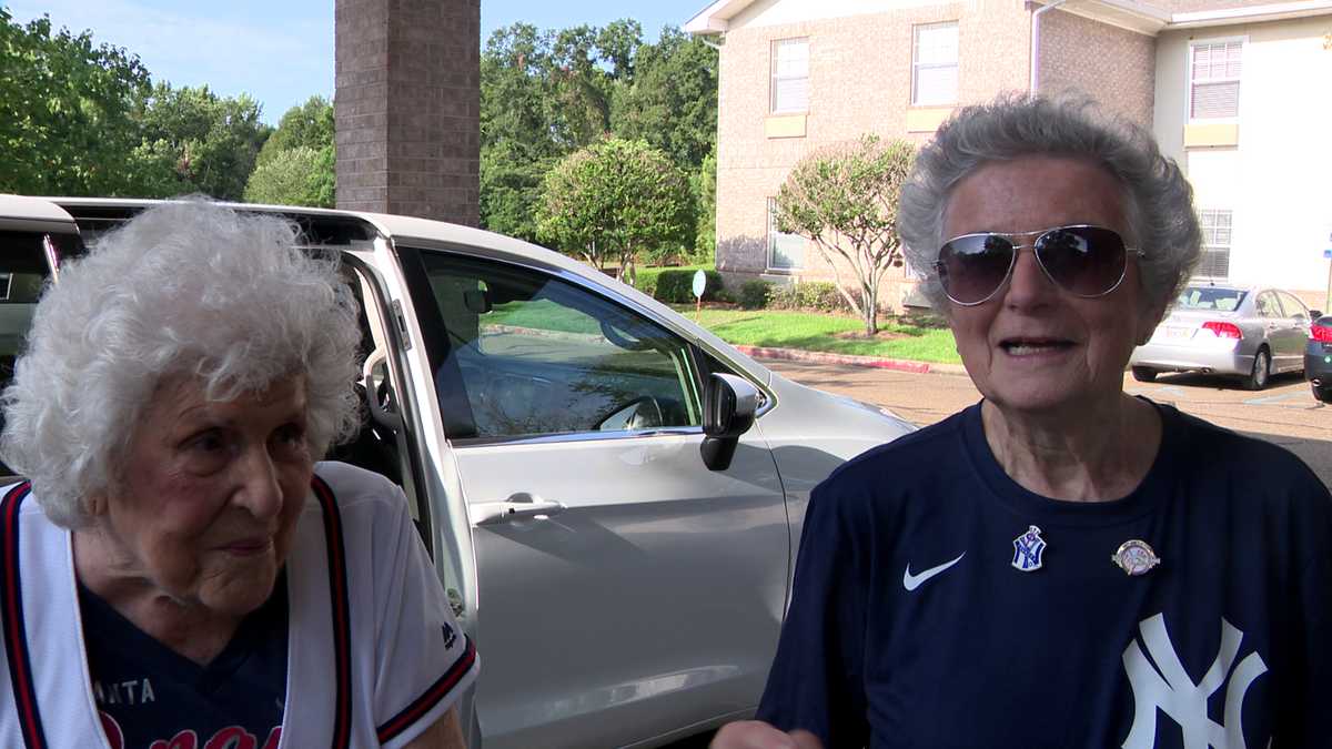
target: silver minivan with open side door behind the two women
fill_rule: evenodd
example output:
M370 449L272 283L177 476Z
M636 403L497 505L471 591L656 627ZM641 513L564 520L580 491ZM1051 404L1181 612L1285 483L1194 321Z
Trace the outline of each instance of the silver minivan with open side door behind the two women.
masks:
M0 372L61 259L145 208L0 196ZM755 709L810 489L911 426L797 385L554 252L286 215L364 307L369 418L482 658L472 746L661 746Z

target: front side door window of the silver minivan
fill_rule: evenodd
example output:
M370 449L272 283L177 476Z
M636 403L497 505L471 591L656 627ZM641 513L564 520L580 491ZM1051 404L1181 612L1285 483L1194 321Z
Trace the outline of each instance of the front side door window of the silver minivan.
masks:
M689 345L551 275L424 256L476 438L698 426ZM438 374L437 374L438 380ZM441 402L448 408L448 402Z

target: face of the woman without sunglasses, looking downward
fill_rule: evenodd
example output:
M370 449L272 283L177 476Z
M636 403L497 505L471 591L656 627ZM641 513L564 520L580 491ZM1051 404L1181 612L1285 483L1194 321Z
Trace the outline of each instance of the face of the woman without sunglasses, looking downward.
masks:
M129 568L177 601L242 616L273 589L309 492L304 377L209 402L157 388L99 517Z

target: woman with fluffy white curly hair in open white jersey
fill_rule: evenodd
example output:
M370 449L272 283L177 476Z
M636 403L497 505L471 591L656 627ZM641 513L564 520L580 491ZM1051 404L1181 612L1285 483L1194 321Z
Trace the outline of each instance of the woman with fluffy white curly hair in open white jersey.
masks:
M462 746L405 496L316 464L358 345L276 217L164 204L61 268L4 392L0 745Z

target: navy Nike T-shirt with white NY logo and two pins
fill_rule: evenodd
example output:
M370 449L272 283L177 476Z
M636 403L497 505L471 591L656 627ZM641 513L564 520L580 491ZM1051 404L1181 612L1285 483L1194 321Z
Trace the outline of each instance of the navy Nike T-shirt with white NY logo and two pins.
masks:
M834 472L758 717L830 748L1332 746L1327 488L1158 410L1118 501L1019 486L979 405Z

